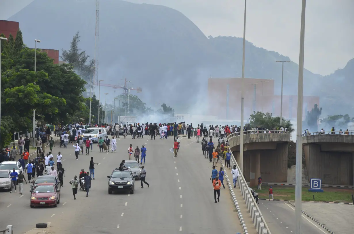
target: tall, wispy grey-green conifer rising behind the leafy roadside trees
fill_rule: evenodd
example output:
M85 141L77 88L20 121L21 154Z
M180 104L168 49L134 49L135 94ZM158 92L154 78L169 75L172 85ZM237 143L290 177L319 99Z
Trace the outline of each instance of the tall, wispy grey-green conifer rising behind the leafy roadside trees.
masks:
M73 36L73 40L70 42L70 49L62 49L62 55L60 58L71 64L74 67L75 72L81 76L84 80L90 81L91 67L95 66L95 61L87 61L90 56L86 54L85 50L79 48L80 35L79 31Z

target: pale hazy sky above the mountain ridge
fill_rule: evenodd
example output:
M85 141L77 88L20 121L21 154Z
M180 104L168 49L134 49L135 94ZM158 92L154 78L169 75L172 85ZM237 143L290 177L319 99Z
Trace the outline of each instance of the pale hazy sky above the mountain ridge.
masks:
M0 0L0 19L7 19L32 1ZM244 0L128 1L174 8L206 36L243 35ZM354 0L307 0L304 64L308 70L330 74L354 58L353 10ZM298 63L301 0L249 0L246 16L246 40Z

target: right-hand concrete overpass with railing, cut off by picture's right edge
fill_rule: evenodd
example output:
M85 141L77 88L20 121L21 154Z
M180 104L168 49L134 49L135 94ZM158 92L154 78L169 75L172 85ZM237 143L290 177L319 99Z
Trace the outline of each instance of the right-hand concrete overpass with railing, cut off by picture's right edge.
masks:
M308 178L322 179L322 184L353 185L354 132L304 134L302 149Z

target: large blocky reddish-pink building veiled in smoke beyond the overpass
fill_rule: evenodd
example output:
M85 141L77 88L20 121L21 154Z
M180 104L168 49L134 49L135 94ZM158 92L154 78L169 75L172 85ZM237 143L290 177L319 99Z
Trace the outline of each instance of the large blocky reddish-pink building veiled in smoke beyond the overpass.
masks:
M209 110L218 115L219 119L240 119L241 112L241 78L210 78L208 79ZM244 119L248 119L253 111L280 115L280 95L274 94L274 80L244 80ZM315 104L320 104L316 96L303 97L303 118ZM283 95L283 117L296 118L297 96Z

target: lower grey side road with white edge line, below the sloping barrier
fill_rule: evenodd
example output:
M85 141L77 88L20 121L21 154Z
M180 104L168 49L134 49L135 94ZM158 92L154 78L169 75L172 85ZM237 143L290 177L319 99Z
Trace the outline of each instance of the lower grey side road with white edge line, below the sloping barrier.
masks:
M259 200L259 209L272 234L291 234L296 232L295 208L287 202ZM302 214L301 233L327 234L318 224Z

